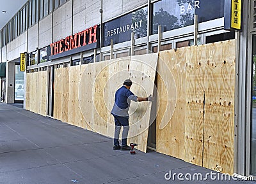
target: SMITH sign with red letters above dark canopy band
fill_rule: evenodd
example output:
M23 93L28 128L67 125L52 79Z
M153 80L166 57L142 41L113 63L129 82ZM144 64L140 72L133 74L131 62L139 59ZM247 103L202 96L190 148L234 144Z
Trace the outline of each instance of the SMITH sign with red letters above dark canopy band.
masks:
M97 48L98 32L98 25L94 25L84 31L52 43L50 45L50 60Z

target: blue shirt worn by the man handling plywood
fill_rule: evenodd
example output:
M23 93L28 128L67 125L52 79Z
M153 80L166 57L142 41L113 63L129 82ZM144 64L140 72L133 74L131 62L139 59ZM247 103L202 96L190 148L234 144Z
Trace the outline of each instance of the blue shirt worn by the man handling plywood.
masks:
M137 101L138 98L125 86L120 87L115 93L115 103L111 114L117 117L129 117L131 100Z

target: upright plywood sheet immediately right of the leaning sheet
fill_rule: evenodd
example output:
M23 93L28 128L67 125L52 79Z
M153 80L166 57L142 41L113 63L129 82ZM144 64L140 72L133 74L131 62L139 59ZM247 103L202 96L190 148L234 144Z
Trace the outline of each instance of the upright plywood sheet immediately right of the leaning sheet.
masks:
M156 149L184 159L184 132L186 118L186 48L159 53L157 65Z

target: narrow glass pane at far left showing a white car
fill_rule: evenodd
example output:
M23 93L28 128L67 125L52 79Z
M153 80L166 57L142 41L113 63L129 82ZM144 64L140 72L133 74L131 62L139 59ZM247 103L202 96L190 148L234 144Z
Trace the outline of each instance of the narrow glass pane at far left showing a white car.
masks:
M20 71L20 66L15 65L15 101L24 100L24 71Z

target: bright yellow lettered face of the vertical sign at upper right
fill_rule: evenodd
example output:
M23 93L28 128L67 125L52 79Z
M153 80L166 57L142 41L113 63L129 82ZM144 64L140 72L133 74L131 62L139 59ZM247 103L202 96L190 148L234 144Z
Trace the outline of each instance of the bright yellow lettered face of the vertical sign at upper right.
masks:
M241 29L242 0L231 1L231 28Z

